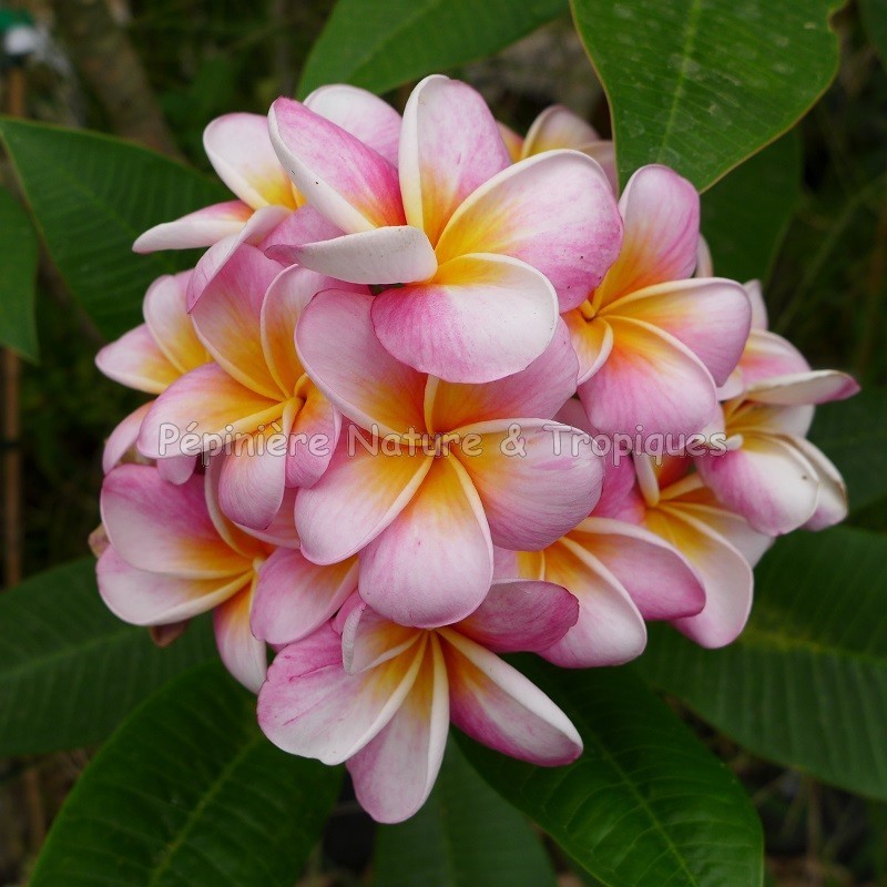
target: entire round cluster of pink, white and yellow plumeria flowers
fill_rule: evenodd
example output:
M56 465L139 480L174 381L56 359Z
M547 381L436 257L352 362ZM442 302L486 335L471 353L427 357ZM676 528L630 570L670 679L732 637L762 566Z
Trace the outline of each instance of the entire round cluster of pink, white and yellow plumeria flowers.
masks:
M164 641L212 611L268 738L345 762L377 819L421 806L451 723L581 754L501 654L615 665L650 620L730 643L772 539L844 517L805 434L856 384L713 275L675 172L618 194L565 109L521 139L438 75L402 116L327 86L205 146L235 198L136 241L205 253L98 356L153 398L105 447L99 588Z

